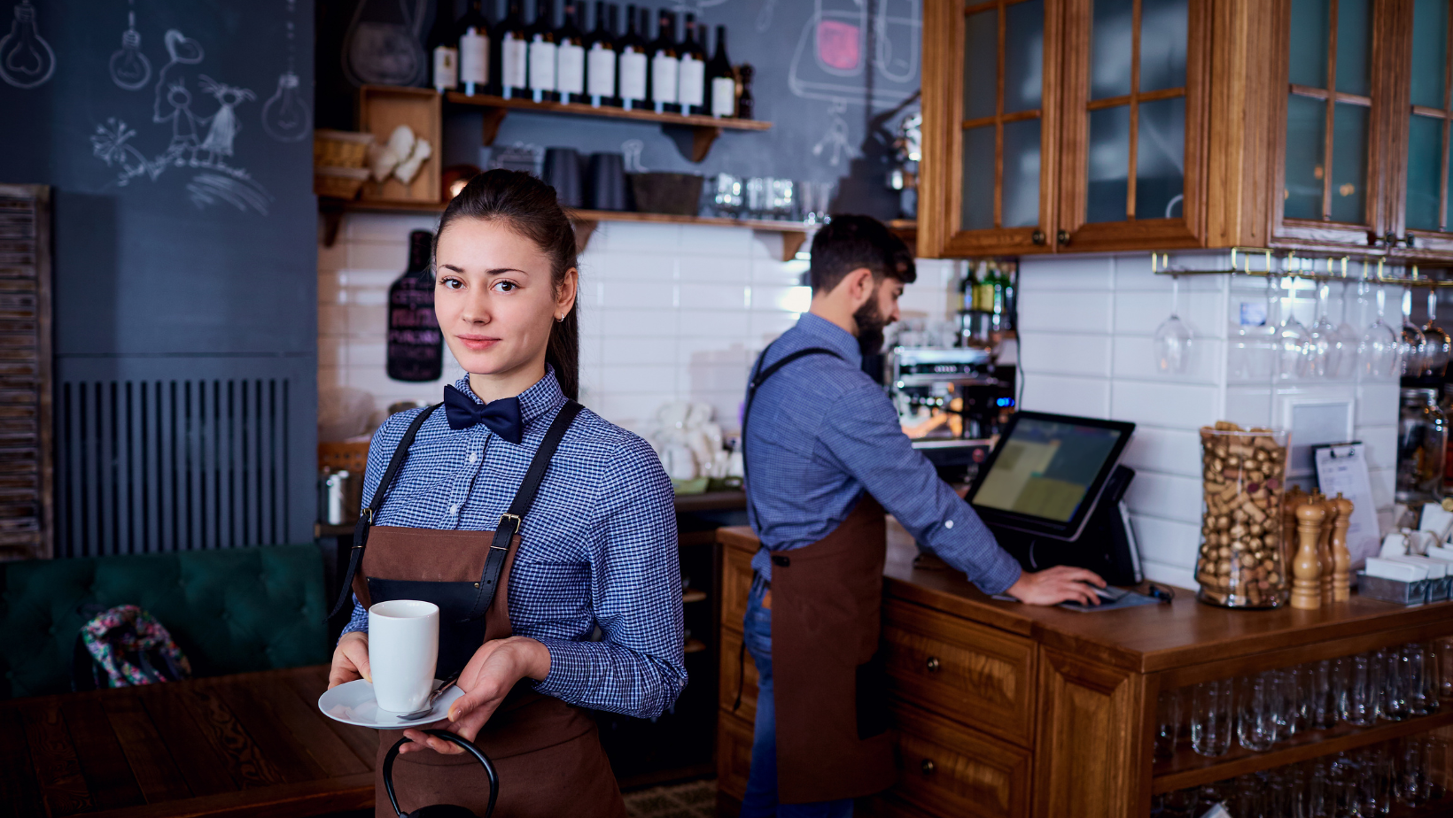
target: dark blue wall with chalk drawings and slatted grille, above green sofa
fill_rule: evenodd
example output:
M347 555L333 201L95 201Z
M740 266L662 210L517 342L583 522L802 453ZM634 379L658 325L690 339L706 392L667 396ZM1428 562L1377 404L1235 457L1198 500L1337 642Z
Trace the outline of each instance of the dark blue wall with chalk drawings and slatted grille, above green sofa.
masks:
M10 32L0 44L0 180L55 189L57 494L68 538L58 540L58 554L309 539L317 405L311 0L3 6L13 17L0 22L0 35ZM234 432L250 434L254 450L224 452L225 437L216 436L225 432L225 407L216 401L227 391L211 389L222 384L234 397L244 384L272 384L286 397L266 410L282 440L266 442L273 459L254 462L264 443L256 401L230 410L241 424ZM167 395L176 386L177 400L192 402L163 417L161 392L147 391L157 385ZM206 404L199 402L203 385ZM142 392L153 397L124 400ZM202 410L209 414L196 414ZM193 426L173 429L182 436L180 465L137 455L135 474L116 472L125 445L155 446L164 424L193 414ZM208 459L203 445L212 446ZM203 465L211 482L199 482ZM238 517L224 530L222 522L198 517L206 530L189 533L186 514L203 514L205 503L216 507L228 500L219 493L234 491L218 477L234 465L272 468L275 488L286 488L276 507L254 509L266 525ZM106 469L116 472L108 478L113 490L97 482ZM153 536L161 511L128 500L118 488L128 482L137 493L211 494L193 504L176 494L169 513L182 516L163 542ZM68 532L65 520L74 523Z

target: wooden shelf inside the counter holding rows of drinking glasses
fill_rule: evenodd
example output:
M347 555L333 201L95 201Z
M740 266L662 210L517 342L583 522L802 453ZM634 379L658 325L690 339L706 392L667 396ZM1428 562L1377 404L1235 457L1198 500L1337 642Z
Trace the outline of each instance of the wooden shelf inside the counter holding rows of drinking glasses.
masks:
M1359 728L1338 724L1331 729L1314 729L1296 734L1296 738L1279 742L1276 748L1255 753L1232 742L1231 751L1216 758L1197 756L1190 745L1180 747L1174 758L1157 761L1151 790L1174 792L1184 787L1207 785L1222 779L1234 779L1257 770L1270 770L1296 764L1319 756L1331 756L1379 744L1405 735L1428 732L1453 725L1453 702L1443 702L1443 709L1431 716L1420 716L1401 722L1379 722L1377 726Z

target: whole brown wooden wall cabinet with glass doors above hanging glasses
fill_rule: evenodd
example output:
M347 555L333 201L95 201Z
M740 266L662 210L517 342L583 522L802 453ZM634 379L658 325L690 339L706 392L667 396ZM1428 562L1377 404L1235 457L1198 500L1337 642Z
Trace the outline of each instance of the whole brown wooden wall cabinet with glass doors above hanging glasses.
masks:
M1453 0L926 0L923 76L921 256L1453 257Z

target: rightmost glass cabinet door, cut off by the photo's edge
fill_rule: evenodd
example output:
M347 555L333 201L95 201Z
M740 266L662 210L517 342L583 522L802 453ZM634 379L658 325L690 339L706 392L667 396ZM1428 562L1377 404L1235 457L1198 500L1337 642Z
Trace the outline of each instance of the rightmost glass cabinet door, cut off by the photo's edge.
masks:
M1385 241L1404 253L1453 253L1453 214L1449 212L1450 122L1453 122L1453 0L1412 0L1412 48L1395 70L1396 109L1407 126L1407 166L1402 179L1402 231ZM1407 94L1404 97L1404 94Z

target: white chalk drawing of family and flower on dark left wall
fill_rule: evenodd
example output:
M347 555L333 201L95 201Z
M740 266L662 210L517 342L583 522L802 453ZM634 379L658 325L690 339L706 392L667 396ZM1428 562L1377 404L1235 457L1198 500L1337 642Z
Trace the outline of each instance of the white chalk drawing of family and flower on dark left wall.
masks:
M186 68L199 65L206 52L202 44L177 29L169 29L163 42L167 62L157 73L151 123L171 131L166 148L148 158L132 144L137 129L112 116L92 134L92 154L116 170L118 186L137 179L155 182L171 169L193 169L196 173L186 190L198 208L227 203L244 212L267 215L272 201L267 190L246 169L228 164L235 154L237 135L243 131L237 109L257 96L248 89L198 74L195 87L201 97L211 97L216 105L212 113L198 113L195 108L201 99L193 97L187 87Z

